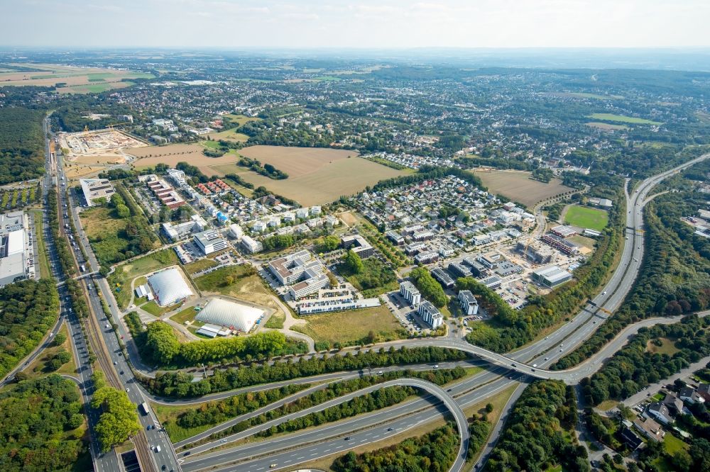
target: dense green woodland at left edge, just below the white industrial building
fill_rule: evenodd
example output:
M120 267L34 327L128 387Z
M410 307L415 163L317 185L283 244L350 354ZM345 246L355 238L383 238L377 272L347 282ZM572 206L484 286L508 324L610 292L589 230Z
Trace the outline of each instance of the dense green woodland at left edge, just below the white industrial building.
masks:
M54 279L25 280L0 288L0 376L38 346L58 314Z

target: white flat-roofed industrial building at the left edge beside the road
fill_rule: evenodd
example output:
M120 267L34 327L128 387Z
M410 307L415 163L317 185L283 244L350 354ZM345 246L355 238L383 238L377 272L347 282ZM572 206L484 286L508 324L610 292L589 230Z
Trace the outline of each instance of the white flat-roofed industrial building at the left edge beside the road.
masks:
M29 253L28 218L22 211L0 215L0 286L35 276Z

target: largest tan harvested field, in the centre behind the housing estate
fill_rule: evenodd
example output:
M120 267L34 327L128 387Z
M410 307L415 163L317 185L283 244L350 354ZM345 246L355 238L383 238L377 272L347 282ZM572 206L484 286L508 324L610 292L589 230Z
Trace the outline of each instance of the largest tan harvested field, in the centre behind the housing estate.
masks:
M361 159L354 151L252 146L240 150L239 153L273 165L288 174L288 179L269 179L236 165L212 166L214 170L211 173L224 175L239 172L244 180L254 186L265 186L274 193L293 198L304 206L329 203L342 195L358 193L382 179L407 173Z

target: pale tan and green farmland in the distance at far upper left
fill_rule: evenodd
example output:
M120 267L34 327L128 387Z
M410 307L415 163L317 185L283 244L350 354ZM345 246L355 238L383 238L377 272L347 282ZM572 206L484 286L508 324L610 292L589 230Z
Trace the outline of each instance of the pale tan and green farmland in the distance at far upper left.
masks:
M12 64L10 64L11 66ZM122 79L151 79L152 74L131 72L117 69L101 69L97 67L70 67L53 64L17 64L23 67L43 69L33 72L16 72L7 70L0 72L0 84L3 86L55 86L60 94L87 94L110 89L119 89L132 85L132 82L121 82Z

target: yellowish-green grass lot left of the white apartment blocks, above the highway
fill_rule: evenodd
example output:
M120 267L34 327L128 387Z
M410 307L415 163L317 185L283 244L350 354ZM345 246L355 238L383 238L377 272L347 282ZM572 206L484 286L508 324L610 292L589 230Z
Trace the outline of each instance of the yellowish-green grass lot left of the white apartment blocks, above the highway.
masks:
M386 305L360 310L346 310L305 317L306 325L294 326L293 330L309 335L315 342L328 342L331 346L371 344L370 332L376 342L407 337L407 332L395 320Z

